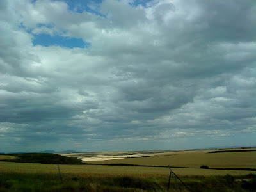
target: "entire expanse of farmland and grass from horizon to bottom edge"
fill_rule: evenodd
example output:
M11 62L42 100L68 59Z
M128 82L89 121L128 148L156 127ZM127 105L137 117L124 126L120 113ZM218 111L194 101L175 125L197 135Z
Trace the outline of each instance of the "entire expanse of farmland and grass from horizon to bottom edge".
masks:
M256 191L254 149L90 153L86 155L127 157L85 164L57 154L1 155L0 191L166 191L168 164L191 191ZM24 161L30 163L19 163ZM189 191L178 183L182 191ZM173 178L170 191L179 191Z

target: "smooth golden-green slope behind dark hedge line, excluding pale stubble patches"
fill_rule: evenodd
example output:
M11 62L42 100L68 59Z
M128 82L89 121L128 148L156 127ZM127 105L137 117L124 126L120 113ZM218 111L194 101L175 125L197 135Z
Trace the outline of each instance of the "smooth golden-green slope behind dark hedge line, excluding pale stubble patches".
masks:
M109 161L86 161L93 164L137 164L147 166L179 166L199 168L256 168L256 151L209 153L209 150L166 152L151 157Z

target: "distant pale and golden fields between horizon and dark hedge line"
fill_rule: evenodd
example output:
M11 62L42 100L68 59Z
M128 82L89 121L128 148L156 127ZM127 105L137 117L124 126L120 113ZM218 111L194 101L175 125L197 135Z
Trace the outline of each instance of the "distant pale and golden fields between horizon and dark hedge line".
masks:
M120 152L119 152L120 153ZM134 164L141 166L168 166L182 168L200 168L205 165L209 168L256 169L255 148L239 148L232 150L188 150L172 152L151 152L149 154L67 154L76 156L90 164ZM90 157L94 161L90 161ZM132 157L136 156L136 158ZM146 156L146 157L145 157ZM130 157L130 158L129 158ZM102 159L111 159L104 160ZM243 161L241 161L243 160Z

